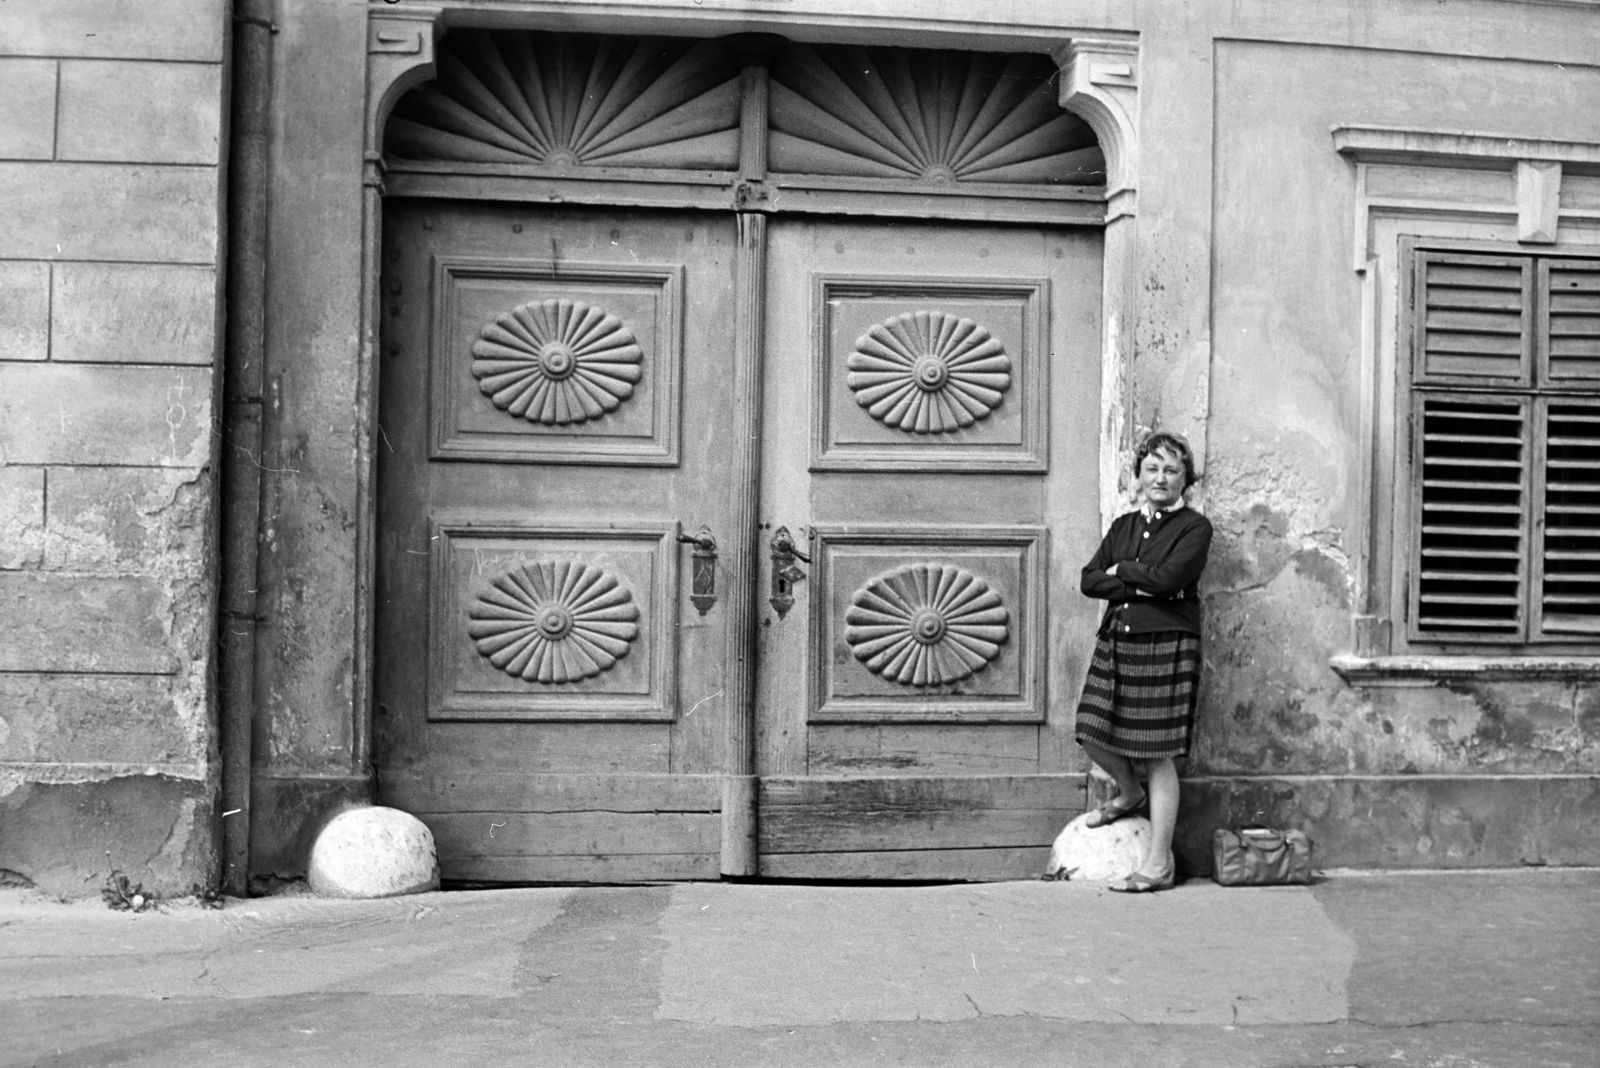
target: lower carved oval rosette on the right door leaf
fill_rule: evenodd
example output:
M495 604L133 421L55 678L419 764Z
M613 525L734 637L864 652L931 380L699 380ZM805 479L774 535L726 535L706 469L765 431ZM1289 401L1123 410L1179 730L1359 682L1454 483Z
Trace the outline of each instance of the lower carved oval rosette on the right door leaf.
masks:
M949 564L878 576L851 598L845 641L867 670L902 686L957 683L1010 638L1011 614L989 584Z

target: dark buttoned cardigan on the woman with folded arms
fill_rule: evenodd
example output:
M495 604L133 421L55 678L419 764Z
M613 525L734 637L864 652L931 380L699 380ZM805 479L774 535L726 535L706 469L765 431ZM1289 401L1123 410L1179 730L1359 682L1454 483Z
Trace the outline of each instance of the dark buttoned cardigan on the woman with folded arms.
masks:
M1110 601L1101 633L1200 633L1200 572L1211 550L1211 523L1194 508L1117 516L1083 566L1085 596ZM1117 574L1106 569L1117 564Z

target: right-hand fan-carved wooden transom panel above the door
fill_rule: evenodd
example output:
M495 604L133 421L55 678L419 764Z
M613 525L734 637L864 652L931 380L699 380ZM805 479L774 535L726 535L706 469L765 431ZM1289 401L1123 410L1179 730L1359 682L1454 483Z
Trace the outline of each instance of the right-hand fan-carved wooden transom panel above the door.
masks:
M773 67L771 168L931 182L1093 184L1094 131L1045 56L792 45Z

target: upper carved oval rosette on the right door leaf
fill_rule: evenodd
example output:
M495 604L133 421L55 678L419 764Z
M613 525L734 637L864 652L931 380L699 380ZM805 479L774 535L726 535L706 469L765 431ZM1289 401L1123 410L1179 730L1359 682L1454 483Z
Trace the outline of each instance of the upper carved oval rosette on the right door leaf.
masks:
M912 433L970 427L1011 385L1005 345L970 318L894 315L856 339L845 384L878 422Z

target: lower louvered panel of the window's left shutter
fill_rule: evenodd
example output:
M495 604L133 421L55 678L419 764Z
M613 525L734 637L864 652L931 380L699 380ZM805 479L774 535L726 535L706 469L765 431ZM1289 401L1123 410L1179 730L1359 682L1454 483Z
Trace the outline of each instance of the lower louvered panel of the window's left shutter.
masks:
M1530 401L1418 393L1414 636L1526 636Z

